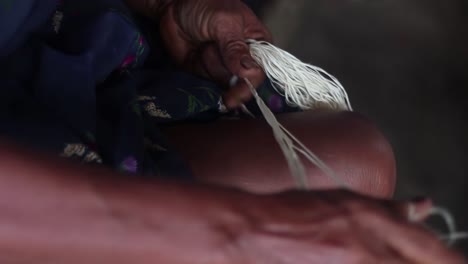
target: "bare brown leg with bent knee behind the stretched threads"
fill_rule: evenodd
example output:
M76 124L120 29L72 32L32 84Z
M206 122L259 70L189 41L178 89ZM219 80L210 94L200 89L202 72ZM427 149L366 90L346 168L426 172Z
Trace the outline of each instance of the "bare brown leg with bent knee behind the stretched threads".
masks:
M393 196L393 151L370 121L356 113L314 111L282 114L278 119L353 191L376 198ZM164 131L201 181L255 193L297 188L271 128L261 119L176 125ZM310 189L344 187L306 159L303 163Z

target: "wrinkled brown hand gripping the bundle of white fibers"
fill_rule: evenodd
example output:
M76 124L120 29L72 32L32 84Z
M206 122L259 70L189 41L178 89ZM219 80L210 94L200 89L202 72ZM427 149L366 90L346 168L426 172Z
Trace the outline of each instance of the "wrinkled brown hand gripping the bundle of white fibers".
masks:
M162 11L161 35L169 53L185 70L227 88L224 102L234 108L251 98L248 86L265 79L250 56L246 39L272 40L269 31L240 0L172 0Z

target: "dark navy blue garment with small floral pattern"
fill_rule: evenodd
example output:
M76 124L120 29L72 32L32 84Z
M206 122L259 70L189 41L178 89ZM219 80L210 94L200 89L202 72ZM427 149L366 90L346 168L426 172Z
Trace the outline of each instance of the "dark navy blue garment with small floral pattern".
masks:
M123 173L189 178L159 126L236 114L216 85L171 67L121 0L2 1L4 138ZM259 93L277 112L294 110L269 82Z

